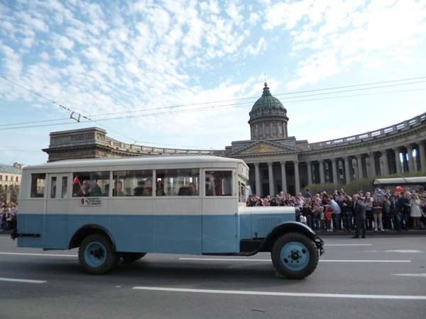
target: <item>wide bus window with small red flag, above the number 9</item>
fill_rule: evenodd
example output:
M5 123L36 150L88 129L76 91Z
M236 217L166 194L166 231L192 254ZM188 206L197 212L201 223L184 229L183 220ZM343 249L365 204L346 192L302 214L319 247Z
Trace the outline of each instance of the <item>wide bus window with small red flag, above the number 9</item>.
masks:
M72 176L72 197L109 195L109 172L78 172Z

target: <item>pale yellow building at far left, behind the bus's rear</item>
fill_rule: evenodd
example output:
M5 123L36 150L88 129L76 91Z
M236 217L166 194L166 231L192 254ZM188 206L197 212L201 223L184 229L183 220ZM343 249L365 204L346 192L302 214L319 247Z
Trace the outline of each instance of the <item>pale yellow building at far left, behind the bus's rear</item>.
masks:
M21 185L22 164L0 164L0 199L16 201L19 185Z

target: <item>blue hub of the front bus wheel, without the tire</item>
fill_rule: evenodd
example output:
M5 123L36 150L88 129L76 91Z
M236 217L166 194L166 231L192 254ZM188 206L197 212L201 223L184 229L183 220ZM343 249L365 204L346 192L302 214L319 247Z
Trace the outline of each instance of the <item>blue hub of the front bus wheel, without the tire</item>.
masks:
M281 263L293 272L298 272L309 264L310 253L302 242L288 242L281 248Z

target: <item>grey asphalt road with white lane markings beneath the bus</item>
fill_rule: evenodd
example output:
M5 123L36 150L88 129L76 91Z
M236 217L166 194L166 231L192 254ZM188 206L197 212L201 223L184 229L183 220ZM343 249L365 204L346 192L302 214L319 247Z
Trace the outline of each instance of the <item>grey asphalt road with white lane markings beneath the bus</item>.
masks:
M275 276L268 253L147 254L91 276L76 250L17 248L0 235L0 318L426 317L426 236L324 241L315 272L295 281Z

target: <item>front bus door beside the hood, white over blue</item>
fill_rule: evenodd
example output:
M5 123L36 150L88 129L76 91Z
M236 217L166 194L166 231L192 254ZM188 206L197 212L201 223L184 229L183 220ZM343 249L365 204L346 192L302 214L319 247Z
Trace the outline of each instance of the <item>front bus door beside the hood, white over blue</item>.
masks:
M235 183L236 172L231 169L203 169L203 254L239 252L238 189Z

